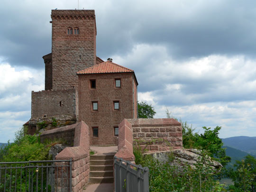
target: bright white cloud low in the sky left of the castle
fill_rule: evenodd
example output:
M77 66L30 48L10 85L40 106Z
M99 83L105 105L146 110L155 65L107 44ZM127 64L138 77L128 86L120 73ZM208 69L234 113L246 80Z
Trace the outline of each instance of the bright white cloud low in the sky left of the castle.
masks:
M30 119L31 91L44 89L43 76L43 70L0 64L0 142L13 141Z

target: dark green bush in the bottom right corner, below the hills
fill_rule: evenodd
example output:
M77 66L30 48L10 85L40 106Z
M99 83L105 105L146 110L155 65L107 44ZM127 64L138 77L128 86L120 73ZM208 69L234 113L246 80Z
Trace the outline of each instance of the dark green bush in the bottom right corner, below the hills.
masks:
M244 160L237 161L237 170L230 170L229 176L234 185L229 186L231 192L255 192L256 191L256 158L247 155Z

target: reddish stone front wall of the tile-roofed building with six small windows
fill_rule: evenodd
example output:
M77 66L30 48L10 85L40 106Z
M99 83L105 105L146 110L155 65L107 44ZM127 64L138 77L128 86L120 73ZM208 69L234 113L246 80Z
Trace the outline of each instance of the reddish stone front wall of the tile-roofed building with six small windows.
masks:
M79 121L83 120L89 126L91 145L118 145L114 127L118 127L123 119L133 118L132 74L78 75ZM121 80L121 88L115 87L115 79ZM95 89L91 89L90 80L96 80ZM119 101L119 110L114 110L114 101ZM98 102L98 110L92 110L92 102ZM92 128L98 128L98 137L92 136Z

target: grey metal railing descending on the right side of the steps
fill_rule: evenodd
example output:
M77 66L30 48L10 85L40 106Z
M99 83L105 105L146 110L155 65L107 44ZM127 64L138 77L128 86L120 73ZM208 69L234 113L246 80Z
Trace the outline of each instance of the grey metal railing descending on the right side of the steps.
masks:
M116 192L149 192L149 169L114 157Z

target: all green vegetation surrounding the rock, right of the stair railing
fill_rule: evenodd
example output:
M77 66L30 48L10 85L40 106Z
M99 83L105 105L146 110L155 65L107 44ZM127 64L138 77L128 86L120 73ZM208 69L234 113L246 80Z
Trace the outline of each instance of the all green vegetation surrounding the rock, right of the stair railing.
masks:
M174 118L168 109L166 116ZM209 161L206 156L219 161L223 166L230 162L230 157L226 155L219 138L221 127L217 126L213 129L203 127L204 133L199 134L192 125L181 119L179 121L183 128L183 147L201 149L203 158L195 164L195 169L184 165L183 171L178 171L178 167L169 164L173 157L170 157L167 163L160 163L150 155L143 156L144 151L138 145L134 148L135 161L137 165L147 166L150 170L150 192L256 192L255 157L247 155L245 160L237 161L236 170L227 170L224 167L221 172L216 172L206 164ZM227 175L232 178L234 184L228 186L219 183L219 178Z

